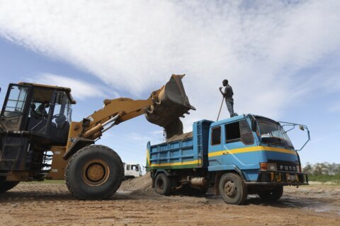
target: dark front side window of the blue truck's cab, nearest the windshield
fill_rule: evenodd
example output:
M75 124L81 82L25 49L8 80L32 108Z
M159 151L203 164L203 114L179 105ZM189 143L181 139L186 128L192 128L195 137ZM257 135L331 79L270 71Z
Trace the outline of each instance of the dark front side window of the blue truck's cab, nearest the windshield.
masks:
M244 145L254 143L254 136L246 120L225 124L225 143L241 141Z

